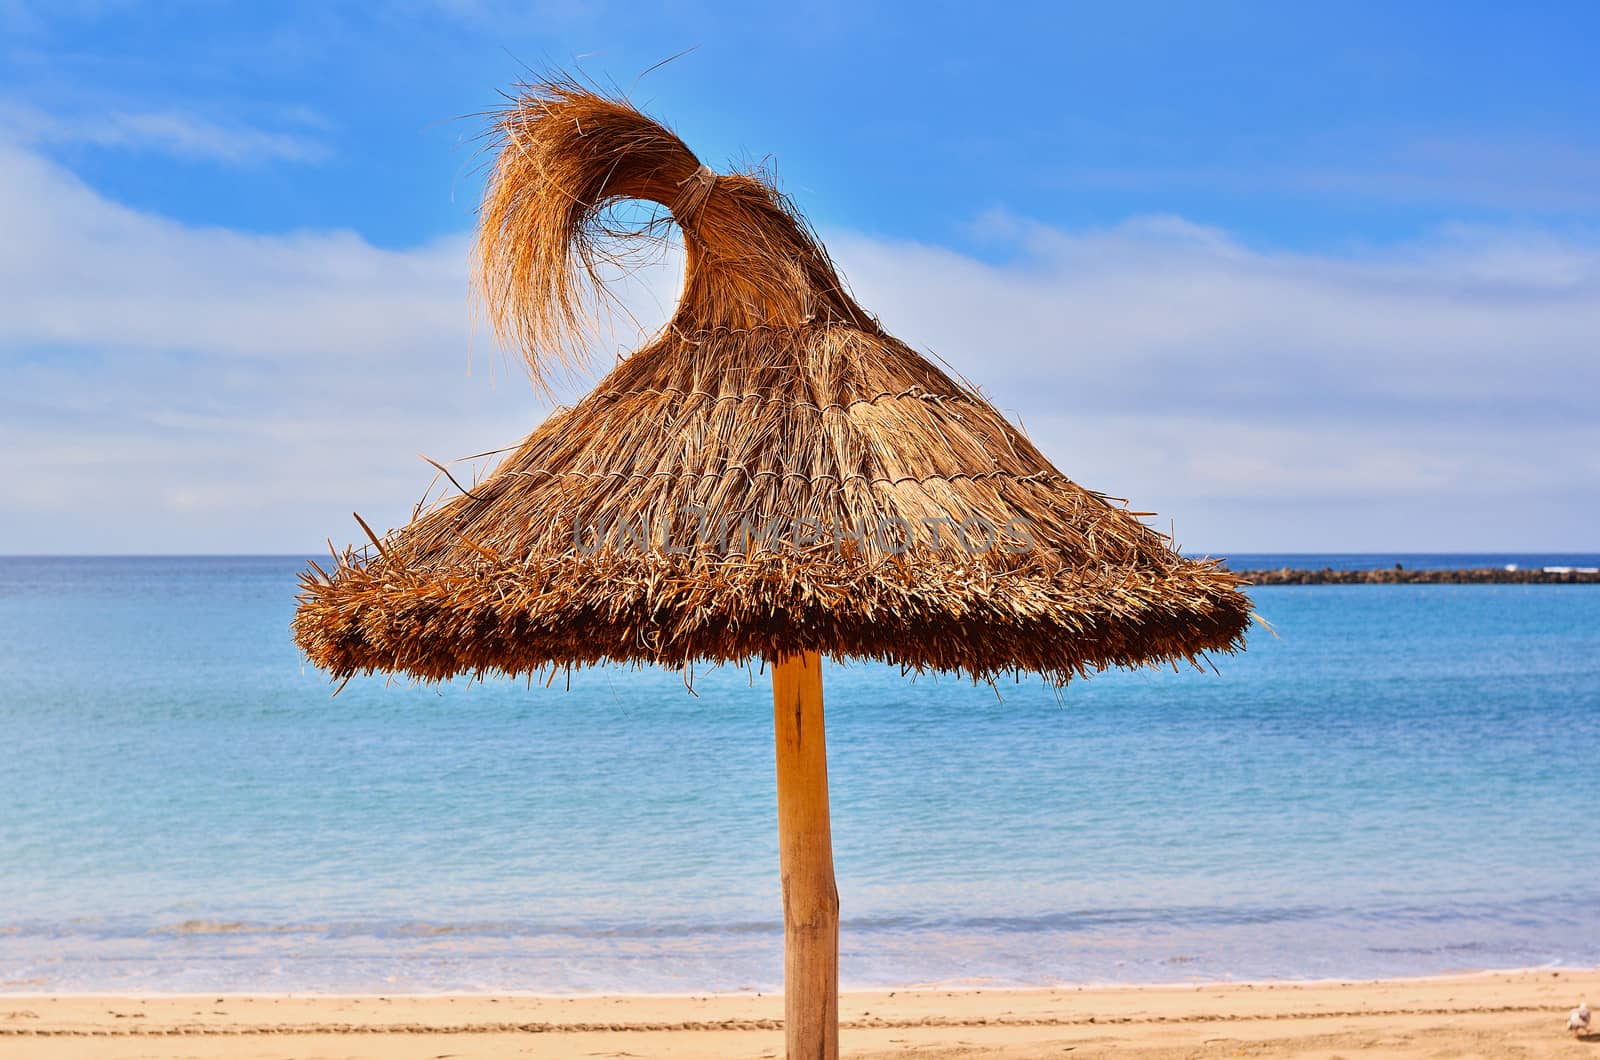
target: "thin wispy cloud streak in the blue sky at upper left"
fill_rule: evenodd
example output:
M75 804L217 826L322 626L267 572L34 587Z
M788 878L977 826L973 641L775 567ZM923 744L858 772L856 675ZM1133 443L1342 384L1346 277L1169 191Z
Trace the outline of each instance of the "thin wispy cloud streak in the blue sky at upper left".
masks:
M64 115L0 102L0 130L26 144L88 144L224 165L318 162L330 154L323 141L304 131L224 125L181 110L82 110Z

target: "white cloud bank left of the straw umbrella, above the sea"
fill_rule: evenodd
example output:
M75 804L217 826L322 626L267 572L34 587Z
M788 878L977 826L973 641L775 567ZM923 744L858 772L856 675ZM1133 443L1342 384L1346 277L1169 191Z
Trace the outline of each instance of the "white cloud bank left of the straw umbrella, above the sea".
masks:
M0 189L0 554L346 541L352 508L405 520L418 452L509 445L547 412L474 333L464 235L190 227L5 147ZM643 327L675 283L664 264L626 291ZM619 319L606 351L635 341Z

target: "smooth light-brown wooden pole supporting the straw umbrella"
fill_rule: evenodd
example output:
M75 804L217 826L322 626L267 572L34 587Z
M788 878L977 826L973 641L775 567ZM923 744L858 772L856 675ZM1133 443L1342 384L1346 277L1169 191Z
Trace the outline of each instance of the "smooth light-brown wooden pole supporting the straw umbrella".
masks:
M784 879L784 1038L789 1060L838 1057L838 889L827 820L822 658L773 660L778 850Z

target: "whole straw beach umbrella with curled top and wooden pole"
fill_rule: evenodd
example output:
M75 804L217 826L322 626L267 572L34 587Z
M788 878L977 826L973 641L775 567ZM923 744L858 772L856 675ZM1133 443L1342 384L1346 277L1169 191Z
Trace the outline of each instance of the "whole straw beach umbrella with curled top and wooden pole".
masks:
M677 309L470 490L312 565L294 637L336 679L768 665L789 1055L834 1057L821 658L1062 684L1238 648L1250 602L888 335L760 175L566 80L494 136L477 280L536 378L581 365L619 202L682 229Z

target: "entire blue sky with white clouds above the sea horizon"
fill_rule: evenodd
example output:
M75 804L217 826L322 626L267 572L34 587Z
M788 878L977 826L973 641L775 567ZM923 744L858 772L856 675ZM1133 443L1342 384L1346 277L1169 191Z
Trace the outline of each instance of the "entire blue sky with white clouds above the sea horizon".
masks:
M1597 549L1600 8L1530 6L0 0L0 552L310 549L531 429L470 115L549 66L1187 548Z

